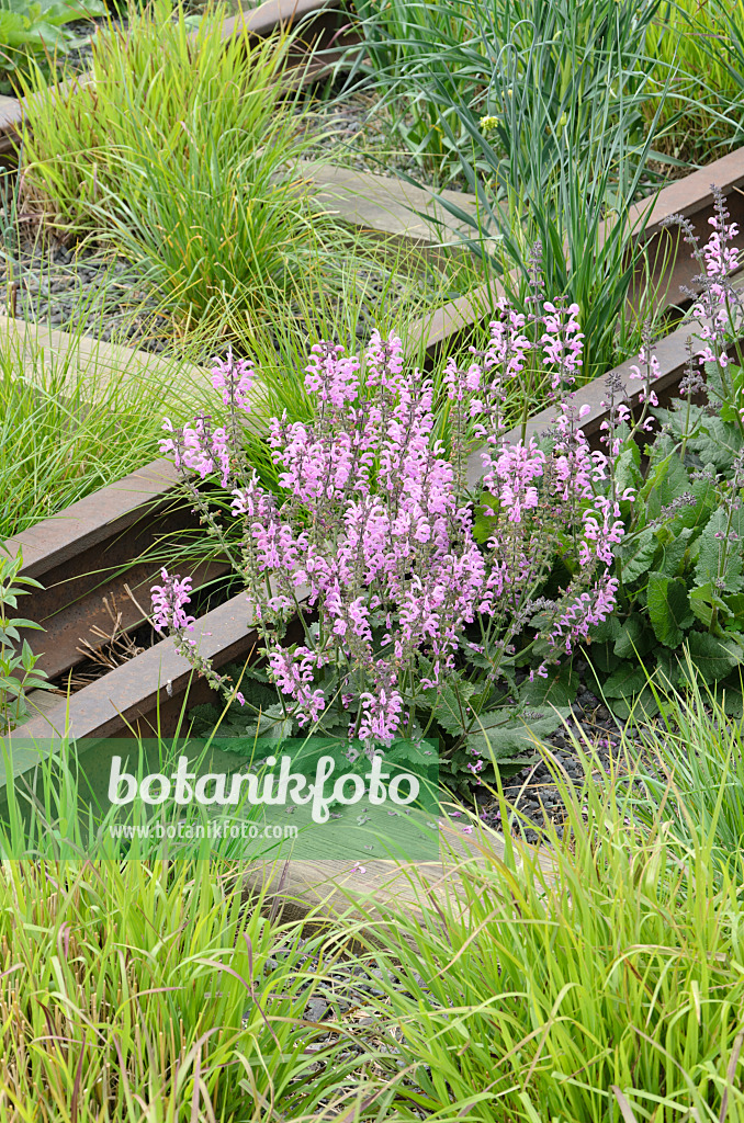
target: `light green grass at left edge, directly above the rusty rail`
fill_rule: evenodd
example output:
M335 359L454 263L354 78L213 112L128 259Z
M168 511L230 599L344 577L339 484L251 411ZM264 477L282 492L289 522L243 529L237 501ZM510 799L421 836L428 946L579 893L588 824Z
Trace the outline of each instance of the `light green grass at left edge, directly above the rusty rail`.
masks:
M43 327L0 330L0 539L154 459L164 409L180 413L198 381L188 363L143 365L83 332L64 349Z

